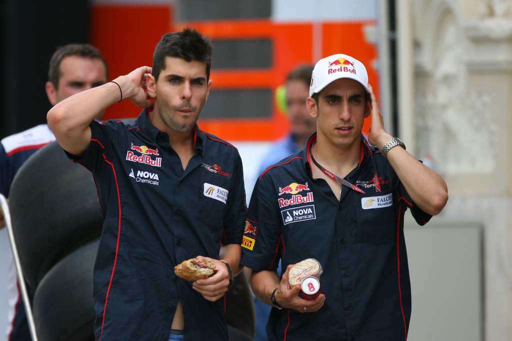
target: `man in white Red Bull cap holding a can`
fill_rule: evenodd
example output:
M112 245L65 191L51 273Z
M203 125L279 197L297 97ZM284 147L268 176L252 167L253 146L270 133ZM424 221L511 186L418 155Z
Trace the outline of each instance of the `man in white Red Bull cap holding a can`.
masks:
M409 208L420 225L428 222L446 204L446 184L386 131L358 60L319 60L309 95L316 134L260 176L242 242L252 289L274 307L269 340L406 340L403 216ZM371 145L361 134L370 115ZM291 286L290 268L308 258L323 267L319 288L318 281ZM280 259L287 269L281 279ZM308 289L321 293L303 295Z

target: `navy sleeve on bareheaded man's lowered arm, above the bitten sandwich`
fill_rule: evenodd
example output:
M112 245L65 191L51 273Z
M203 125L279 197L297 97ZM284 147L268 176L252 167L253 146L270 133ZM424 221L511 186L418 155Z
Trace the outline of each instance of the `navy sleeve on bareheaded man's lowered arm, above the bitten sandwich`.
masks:
M238 151L235 155L232 183L233 186L228 195L227 209L223 221L223 244L240 244L247 211L242 159Z

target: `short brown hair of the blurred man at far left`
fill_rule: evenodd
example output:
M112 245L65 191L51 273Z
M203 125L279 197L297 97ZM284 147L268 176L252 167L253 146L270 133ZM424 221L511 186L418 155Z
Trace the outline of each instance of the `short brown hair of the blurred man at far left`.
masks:
M105 76L109 78L109 67L106 65L105 59L94 46L90 44L67 44L59 46L50 59L50 67L48 69L48 80L53 83L56 89L59 87L60 63L62 59L68 56L79 56L84 58L99 59L105 65Z

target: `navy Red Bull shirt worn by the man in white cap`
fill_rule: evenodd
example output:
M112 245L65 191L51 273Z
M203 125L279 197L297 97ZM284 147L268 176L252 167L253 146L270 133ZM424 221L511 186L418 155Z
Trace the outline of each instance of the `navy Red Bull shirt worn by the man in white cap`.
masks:
M431 216L416 206L382 154L364 145L345 179L366 193L343 186L338 201L324 179L312 178L315 140L313 134L304 150L259 177L247 212L242 265L275 270L280 259L285 269L315 258L324 269L324 306L313 313L272 308L269 340L404 340L411 285L403 216L409 208L420 225Z

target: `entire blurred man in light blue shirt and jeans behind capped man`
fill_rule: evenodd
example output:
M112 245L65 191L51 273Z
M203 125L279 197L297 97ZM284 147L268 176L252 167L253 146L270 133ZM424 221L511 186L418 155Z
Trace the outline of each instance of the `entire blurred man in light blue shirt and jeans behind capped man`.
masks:
M258 175L262 174L269 166L304 148L310 135L315 132L316 121L309 115L308 107L306 106L312 72L313 66L300 65L290 71L286 77L284 99L286 113L290 121L290 132L270 147L265 157L263 157ZM250 270L247 270L248 268L246 268L246 276L250 278ZM278 266L278 274L281 274L281 262ZM260 301L258 297L254 297L254 314L256 318L254 341L267 340L265 329L270 309L269 305Z

